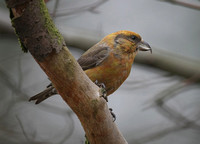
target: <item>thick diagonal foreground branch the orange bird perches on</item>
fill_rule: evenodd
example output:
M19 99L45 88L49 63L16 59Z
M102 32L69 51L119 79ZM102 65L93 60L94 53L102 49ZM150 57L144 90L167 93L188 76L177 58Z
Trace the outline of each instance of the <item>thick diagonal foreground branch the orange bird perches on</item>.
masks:
M6 0L21 47L29 51L76 113L91 144L124 144L99 88L67 49L43 0ZM77 39L78 41L78 39Z

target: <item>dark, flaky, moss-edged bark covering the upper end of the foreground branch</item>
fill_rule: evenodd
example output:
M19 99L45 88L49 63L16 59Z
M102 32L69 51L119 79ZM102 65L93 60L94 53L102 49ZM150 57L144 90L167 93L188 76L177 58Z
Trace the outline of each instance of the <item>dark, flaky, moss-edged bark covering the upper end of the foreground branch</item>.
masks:
M53 24L43 0L27 1L13 9L19 12L11 21L24 51L28 49L39 61L52 51L60 52L65 45L64 39Z

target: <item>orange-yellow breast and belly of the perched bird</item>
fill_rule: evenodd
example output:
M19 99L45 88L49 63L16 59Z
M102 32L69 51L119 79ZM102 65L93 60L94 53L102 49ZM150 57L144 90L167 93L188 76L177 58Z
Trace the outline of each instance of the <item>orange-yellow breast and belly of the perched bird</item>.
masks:
M116 91L128 77L132 63L132 55L111 53L100 65L86 70L87 76L94 82L104 83L107 94Z

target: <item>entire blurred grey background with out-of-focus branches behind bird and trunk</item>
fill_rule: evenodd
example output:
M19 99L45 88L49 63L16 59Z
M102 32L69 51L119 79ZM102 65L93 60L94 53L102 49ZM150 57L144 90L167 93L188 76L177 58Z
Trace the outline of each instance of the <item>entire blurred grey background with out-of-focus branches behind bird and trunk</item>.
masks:
M109 97L130 144L199 144L199 0L47 0L47 6L77 59L118 30L137 32L152 46L153 54L139 53L129 78ZM78 118L59 95L28 102L49 83L21 51L1 1L0 143L84 143Z

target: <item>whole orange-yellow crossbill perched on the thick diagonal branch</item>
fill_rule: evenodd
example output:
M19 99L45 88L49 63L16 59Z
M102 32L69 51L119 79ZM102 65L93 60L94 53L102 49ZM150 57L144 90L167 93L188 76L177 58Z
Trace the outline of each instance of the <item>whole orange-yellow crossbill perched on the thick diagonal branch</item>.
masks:
M118 31L104 37L88 49L78 63L91 81L103 83L107 96L115 92L129 76L138 51L150 51L150 45L141 36L131 31ZM41 93L31 97L36 104L57 94L52 84Z

